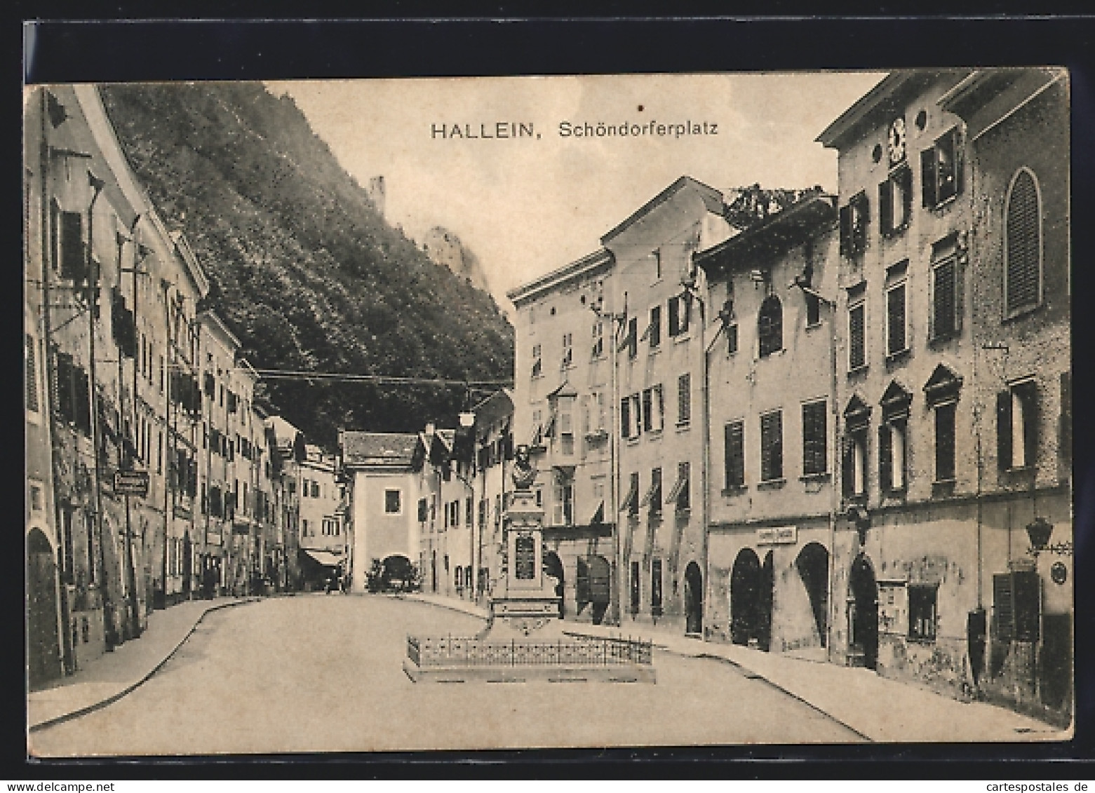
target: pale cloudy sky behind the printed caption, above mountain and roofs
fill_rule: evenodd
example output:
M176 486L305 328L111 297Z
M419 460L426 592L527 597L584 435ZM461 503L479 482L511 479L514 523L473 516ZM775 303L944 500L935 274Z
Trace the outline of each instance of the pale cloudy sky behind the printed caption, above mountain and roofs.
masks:
M361 185L383 175L385 217L475 253L505 293L600 246L682 175L712 187L820 185L837 154L815 138L884 74L814 72L445 78L268 83L289 93ZM672 133L564 136L561 125L675 125ZM497 135L497 124L533 135ZM705 135L681 135L707 124ZM714 133L711 133L712 125ZM458 126L465 137L454 137ZM702 129L702 127L701 127ZM443 135L441 132L443 130Z

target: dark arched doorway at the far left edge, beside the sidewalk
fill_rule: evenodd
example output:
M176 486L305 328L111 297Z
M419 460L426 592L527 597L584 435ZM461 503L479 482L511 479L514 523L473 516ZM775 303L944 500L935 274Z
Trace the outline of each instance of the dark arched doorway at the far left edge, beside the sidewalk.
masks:
M26 537L26 670L31 688L59 677L57 563L41 529Z

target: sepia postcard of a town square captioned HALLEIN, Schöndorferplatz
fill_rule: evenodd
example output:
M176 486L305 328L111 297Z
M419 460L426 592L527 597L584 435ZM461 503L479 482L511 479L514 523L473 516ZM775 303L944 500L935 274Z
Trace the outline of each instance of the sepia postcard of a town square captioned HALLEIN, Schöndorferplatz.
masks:
M32 758L1074 735L1070 72L30 83Z

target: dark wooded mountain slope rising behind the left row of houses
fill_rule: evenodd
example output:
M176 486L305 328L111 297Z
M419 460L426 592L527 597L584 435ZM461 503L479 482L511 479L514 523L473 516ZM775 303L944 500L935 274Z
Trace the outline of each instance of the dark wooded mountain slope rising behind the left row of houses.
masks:
M122 144L212 282L256 369L457 380L512 375L494 300L387 225L289 96L260 83L102 89ZM378 171L382 167L378 163ZM460 386L269 380L310 441L450 422Z

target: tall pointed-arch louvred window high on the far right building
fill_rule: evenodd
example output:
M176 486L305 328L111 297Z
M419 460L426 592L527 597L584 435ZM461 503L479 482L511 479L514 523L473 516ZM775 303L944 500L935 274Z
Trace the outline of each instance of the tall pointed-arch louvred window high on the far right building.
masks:
M1027 168L1012 179L1004 223L1004 303L1012 315L1041 301L1041 212L1038 185Z

